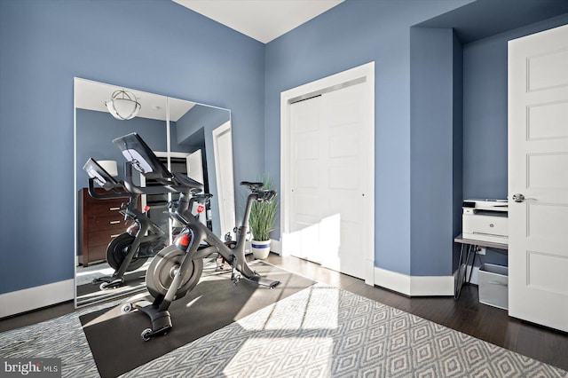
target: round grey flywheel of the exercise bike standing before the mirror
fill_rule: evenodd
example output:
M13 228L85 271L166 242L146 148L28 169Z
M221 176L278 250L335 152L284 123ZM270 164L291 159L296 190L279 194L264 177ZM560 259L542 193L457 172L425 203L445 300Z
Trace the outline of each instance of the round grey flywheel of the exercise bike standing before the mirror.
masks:
M150 263L146 271L146 288L154 298L166 295L184 257L185 252L175 245L163 248L154 256L152 263ZM201 272L203 272L203 260L200 258L191 261L181 281L181 285L177 289L176 299L181 298L197 285L201 278Z

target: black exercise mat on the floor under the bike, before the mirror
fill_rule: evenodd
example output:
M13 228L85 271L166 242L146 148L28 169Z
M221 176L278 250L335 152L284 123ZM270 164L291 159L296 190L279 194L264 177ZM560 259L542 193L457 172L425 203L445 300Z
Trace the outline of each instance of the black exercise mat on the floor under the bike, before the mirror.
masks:
M99 374L104 378L126 373L315 283L260 261L253 269L271 280L280 280L280 285L270 289L241 279L234 286L230 272L204 272L191 292L171 303L170 333L148 342L140 335L150 327L150 319L141 312L122 314L121 306L116 306L82 315L79 319Z

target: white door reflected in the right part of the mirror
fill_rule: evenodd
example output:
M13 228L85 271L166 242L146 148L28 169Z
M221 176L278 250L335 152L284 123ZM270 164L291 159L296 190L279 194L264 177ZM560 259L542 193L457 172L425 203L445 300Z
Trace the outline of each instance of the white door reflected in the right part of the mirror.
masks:
M235 224L234 178L233 178L233 133L231 122L225 122L213 130L215 174L219 196L219 223L221 236L233 234Z

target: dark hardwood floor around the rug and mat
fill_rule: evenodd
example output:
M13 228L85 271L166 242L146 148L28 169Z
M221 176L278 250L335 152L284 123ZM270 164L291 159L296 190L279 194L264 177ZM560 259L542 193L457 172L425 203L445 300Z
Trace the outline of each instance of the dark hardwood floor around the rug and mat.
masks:
M271 254L266 261L568 371L568 334L509 318L507 311L479 303L477 286L463 287L459 301L454 301L453 297L409 298L381 287L370 287L363 280L296 257ZM62 303L3 319L0 320L0 332L26 327L72 311L73 303Z

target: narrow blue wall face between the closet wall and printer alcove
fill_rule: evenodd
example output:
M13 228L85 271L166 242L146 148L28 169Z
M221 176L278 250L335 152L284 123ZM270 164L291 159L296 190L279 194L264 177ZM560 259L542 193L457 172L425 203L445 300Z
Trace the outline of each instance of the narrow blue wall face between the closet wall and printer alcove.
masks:
M450 275L454 213L461 213L453 201L454 180L461 181L461 170L454 171L454 102L461 107L461 97L454 96L451 28L411 28L410 90L410 272Z

